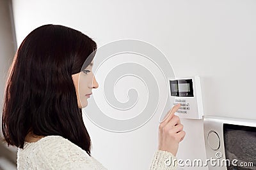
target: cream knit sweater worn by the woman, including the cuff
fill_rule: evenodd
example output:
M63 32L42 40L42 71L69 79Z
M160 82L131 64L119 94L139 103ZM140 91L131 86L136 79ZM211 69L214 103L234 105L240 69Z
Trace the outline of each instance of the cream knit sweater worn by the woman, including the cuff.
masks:
M150 170L173 170L166 166L166 159L175 157L170 152L158 150L154 154ZM17 153L18 169L106 169L99 161L90 157L82 148L61 136L45 136L35 143L24 143Z

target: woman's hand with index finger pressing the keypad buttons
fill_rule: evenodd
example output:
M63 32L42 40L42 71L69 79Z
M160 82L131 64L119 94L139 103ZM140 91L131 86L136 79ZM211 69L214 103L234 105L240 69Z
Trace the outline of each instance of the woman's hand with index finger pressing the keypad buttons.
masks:
M159 124L158 150L171 152L174 156L177 154L180 141L186 134L183 131L183 125L180 124L180 118L174 115L179 108L180 104L173 106L163 122Z

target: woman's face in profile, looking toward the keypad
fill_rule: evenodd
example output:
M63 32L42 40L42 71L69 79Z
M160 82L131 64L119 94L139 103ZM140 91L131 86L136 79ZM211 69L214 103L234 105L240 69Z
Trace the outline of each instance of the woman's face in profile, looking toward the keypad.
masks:
M99 84L92 73L92 67L93 61L81 72L72 74L79 108L84 108L88 105L87 99L90 97L90 94L92 94L92 89L97 89L99 87Z

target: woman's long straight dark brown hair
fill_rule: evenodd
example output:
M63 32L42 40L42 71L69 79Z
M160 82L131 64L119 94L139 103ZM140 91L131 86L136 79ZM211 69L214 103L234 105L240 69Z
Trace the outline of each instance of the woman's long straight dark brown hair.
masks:
M92 62L96 49L91 38L63 25L42 25L26 36L4 92L2 131L8 146L23 148L26 135L33 132L62 136L90 155L91 139L72 74Z

